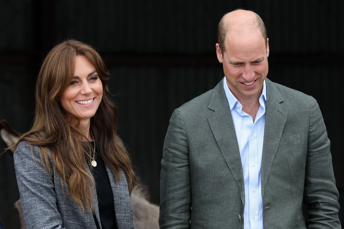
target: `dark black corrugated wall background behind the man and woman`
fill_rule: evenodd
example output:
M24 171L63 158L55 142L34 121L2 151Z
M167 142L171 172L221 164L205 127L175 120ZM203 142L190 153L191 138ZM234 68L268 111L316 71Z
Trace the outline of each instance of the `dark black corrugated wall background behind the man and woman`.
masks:
M318 101L343 203L341 0L0 0L0 119L28 131L35 79L47 52L65 38L95 46L111 73L110 90L117 94L119 135L152 202L159 204L169 118L176 107L222 79L217 24L238 7L254 10L266 24L268 78ZM19 228L13 208L18 198L13 159L5 153L0 157L0 218L7 229Z

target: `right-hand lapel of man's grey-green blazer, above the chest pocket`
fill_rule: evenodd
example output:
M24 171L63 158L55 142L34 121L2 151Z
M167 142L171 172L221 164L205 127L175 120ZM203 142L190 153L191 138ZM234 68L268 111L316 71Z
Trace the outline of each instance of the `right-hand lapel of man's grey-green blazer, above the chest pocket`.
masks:
M268 180L272 162L276 156L277 148L288 115L288 108L281 105L281 102L284 101L282 95L269 79L266 79L266 93L265 130L261 162L262 196L264 196L266 182Z

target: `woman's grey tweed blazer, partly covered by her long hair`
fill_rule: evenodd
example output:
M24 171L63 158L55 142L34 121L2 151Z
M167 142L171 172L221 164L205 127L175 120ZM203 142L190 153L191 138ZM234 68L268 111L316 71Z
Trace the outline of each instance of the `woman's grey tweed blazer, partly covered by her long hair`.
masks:
M49 151L48 156L50 171L55 171L54 162ZM94 218L91 211L80 209L69 191L61 185L61 176L57 171L53 172L53 176L45 171L37 146L27 142L20 142L13 157L24 219L28 229L97 229L97 227L101 229L95 188L92 190ZM114 194L114 208L118 228L133 229L126 176L122 171L120 181L116 182L114 172L107 165L105 166ZM87 163L86 168L90 172Z

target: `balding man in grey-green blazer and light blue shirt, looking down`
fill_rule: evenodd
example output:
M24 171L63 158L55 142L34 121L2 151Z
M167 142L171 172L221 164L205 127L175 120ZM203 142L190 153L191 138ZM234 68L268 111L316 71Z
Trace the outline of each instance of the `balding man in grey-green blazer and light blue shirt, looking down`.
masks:
M318 104L266 78L269 39L256 13L226 14L218 42L224 79L170 119L160 228L341 228Z

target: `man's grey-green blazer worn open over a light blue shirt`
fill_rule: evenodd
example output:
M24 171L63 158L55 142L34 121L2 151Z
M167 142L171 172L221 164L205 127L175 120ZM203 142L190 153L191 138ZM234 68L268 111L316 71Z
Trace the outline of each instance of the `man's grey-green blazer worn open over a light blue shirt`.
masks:
M269 79L266 88L264 228L341 228L318 103ZM160 228L243 228L244 175L223 81L173 112L161 167Z

